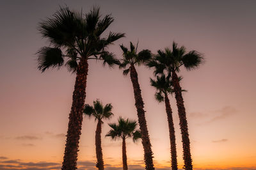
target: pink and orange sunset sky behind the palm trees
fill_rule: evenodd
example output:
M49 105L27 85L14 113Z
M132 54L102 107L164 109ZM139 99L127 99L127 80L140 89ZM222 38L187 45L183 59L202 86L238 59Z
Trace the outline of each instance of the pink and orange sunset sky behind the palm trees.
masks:
M256 1L0 1L0 169L60 169L75 75L37 70L42 39L38 22L67 5L88 12L100 6L115 21L108 31L125 33L109 51L121 58L119 45L139 42L139 50L170 47L175 41L204 54L198 70L179 75L195 169L256 169ZM154 99L153 70L136 67L145 102L156 169L170 169L170 139L164 104ZM102 150L106 169L122 169L121 141L104 135L119 116L137 120L129 76L117 67L90 61L86 104L99 98L113 105L104 121ZM178 165L182 143L175 98L170 95ZM95 169L96 123L84 118L79 169ZM141 142L127 141L129 169L143 169Z

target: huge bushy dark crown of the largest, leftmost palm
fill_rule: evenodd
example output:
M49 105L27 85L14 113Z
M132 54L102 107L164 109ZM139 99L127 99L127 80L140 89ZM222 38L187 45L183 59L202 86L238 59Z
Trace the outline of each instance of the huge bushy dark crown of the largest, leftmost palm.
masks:
M101 37L113 20L111 15L100 19L98 7L85 15L61 8L51 19L39 24L40 33L52 47L42 47L36 53L38 69L44 72L47 68L60 68L66 61L68 70L76 72L77 61L81 58L102 59L109 66L118 64L113 53L105 49L124 34L109 32L107 37Z

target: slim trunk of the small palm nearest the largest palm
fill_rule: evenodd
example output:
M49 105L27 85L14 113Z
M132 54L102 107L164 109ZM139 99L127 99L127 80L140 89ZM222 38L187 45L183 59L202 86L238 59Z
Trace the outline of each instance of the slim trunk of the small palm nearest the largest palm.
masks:
M96 156L97 156L97 164L96 167L99 170L104 170L104 162L102 157L102 148L101 148L101 124L102 121L99 120L95 132L95 146L96 146Z

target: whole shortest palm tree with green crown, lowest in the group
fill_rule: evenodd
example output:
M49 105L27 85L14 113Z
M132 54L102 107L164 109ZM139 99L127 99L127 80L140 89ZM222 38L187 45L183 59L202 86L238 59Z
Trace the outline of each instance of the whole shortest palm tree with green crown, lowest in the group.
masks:
M123 158L123 169L127 170L127 156L126 156L126 144L125 139L132 137L134 143L141 138L141 134L139 130L136 130L137 123L136 121L131 121L129 119L124 120L124 118L118 119L118 124L116 123L109 123L109 127L112 129L109 130L106 136L111 137L113 140L122 139L122 158Z

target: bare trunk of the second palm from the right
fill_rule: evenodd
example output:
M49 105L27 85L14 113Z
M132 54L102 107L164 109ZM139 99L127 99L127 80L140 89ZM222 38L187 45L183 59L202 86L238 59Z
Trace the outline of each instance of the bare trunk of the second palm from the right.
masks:
M169 126L169 135L171 143L171 155L172 155L172 169L177 170L177 150L176 150L176 141L175 141L175 130L173 125L172 118L172 108L170 105L170 100L167 94L164 94L165 109L167 114L168 126Z

